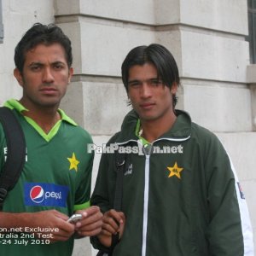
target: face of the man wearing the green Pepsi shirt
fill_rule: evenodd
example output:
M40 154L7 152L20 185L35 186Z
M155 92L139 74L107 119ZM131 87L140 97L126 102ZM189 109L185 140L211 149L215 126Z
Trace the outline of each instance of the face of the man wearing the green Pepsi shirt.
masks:
M38 44L26 52L23 72L15 68L22 104L28 109L58 108L72 75L61 44Z

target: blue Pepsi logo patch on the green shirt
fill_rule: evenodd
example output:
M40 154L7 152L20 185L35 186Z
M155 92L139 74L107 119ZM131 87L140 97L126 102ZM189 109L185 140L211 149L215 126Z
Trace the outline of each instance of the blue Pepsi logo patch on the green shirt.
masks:
M25 183L25 205L44 207L66 207L68 187L53 183Z

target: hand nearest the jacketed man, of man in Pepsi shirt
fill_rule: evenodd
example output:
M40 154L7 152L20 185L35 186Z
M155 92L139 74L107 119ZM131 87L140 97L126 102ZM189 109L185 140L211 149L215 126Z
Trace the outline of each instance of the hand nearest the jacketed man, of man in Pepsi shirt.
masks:
M93 206L75 213L82 214L82 219L75 224L79 236L96 236L102 231L102 212Z

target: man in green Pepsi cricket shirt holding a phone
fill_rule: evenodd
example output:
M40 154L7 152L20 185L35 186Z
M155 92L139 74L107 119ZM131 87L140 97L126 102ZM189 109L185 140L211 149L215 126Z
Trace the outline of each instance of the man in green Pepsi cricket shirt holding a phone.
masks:
M35 24L15 48L15 78L23 90L12 109L26 139L26 162L0 212L3 255L72 255L73 238L102 229L90 207L90 134L59 109L73 75L72 47L61 28ZM8 149L0 124L0 175ZM82 214L78 223L67 222Z

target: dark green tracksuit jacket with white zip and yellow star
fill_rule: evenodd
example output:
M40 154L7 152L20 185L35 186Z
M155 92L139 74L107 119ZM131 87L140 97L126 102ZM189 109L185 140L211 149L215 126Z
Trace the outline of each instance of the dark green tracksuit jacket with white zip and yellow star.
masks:
M131 111L107 147L127 149L125 232L113 256L253 256L247 203L218 138L177 111L172 129L145 150L136 125ZM91 198L102 212L113 208L116 178L115 155L108 149ZM91 241L103 248L95 237Z

